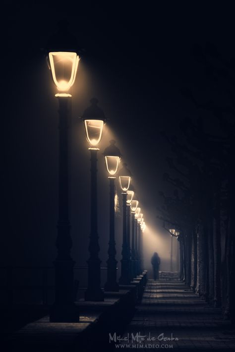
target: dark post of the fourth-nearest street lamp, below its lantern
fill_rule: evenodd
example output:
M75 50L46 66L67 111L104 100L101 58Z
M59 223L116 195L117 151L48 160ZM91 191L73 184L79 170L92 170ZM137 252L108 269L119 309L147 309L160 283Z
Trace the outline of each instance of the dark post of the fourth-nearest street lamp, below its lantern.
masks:
M122 227L122 259L121 259L121 276L119 278L120 285L127 285L130 283L130 273L129 273L129 251L127 245L127 222L126 222L126 196L127 193L122 193L122 208L123 208L123 227Z

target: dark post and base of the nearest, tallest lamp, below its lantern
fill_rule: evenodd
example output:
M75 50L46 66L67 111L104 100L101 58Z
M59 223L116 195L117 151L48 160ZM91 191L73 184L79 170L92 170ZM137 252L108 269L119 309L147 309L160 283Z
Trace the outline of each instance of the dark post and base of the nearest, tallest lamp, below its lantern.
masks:
M59 219L56 246L58 249L55 265L55 303L50 311L50 321L79 321L73 291L73 266L70 250L69 202L68 202L68 99L59 101Z

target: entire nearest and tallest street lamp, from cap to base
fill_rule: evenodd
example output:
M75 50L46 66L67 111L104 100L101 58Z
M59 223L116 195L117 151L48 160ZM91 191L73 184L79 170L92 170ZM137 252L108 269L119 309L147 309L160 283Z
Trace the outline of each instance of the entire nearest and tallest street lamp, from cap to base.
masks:
M65 25L65 27L64 27ZM76 77L79 56L77 42L60 23L59 31L47 44L47 56L53 81L57 87L59 103L59 219L57 225L57 257L55 266L55 303L50 311L50 321L77 322L79 312L75 306L73 267L70 250L72 240L69 222L68 196L68 101L69 89Z

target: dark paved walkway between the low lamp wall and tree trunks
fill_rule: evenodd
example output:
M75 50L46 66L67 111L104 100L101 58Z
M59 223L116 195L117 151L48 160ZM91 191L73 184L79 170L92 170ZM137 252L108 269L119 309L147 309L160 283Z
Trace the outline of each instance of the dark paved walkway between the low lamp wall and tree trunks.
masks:
M180 281L148 280L136 308L115 350L235 351L235 327Z

